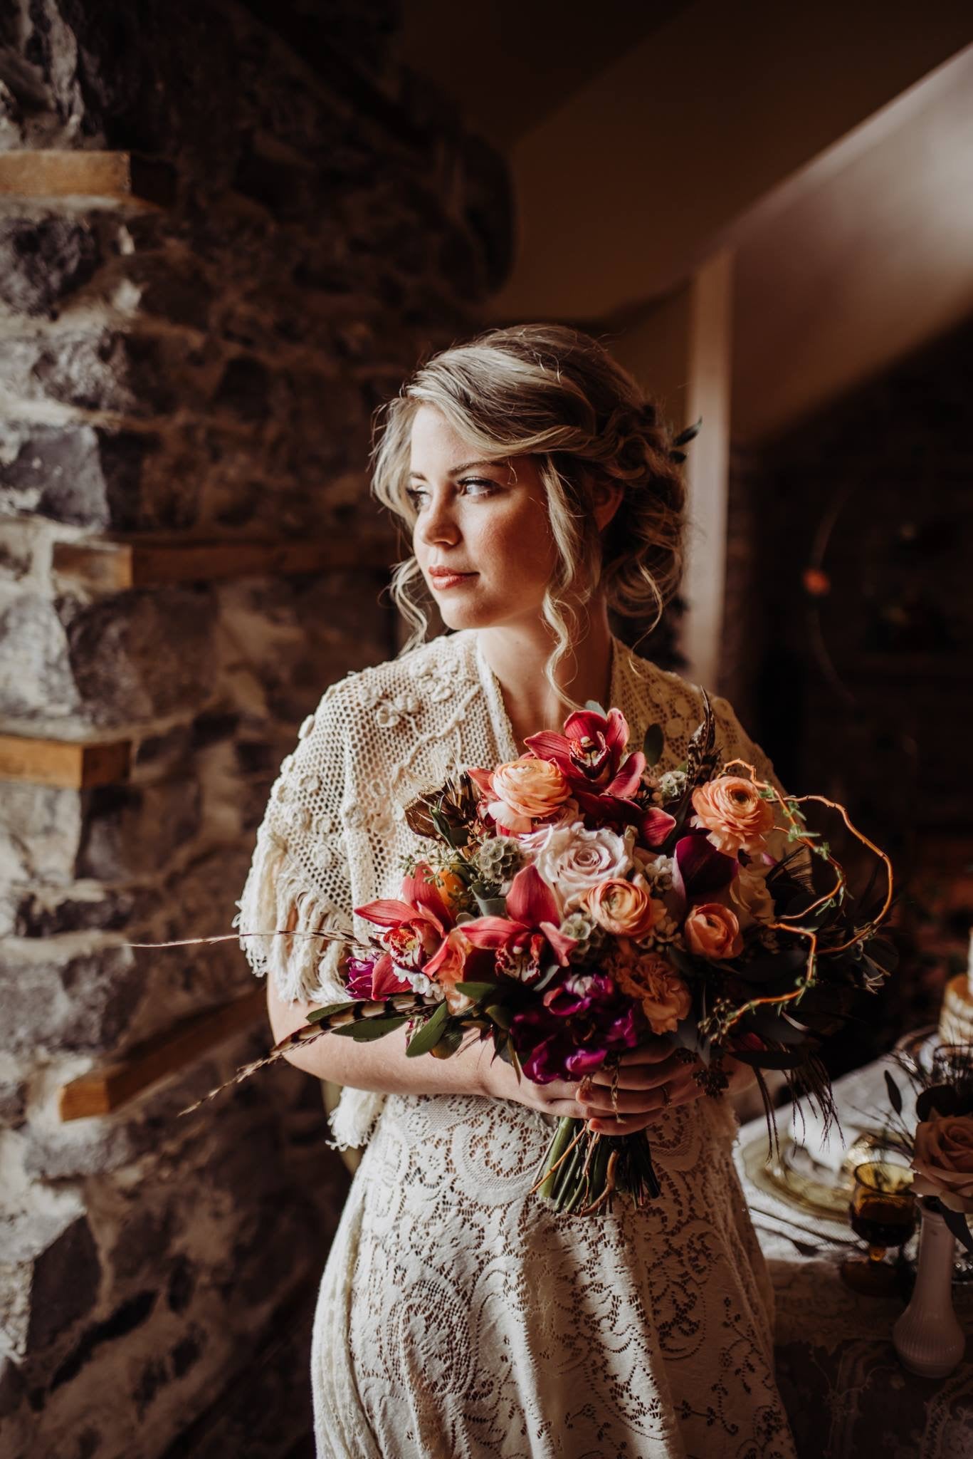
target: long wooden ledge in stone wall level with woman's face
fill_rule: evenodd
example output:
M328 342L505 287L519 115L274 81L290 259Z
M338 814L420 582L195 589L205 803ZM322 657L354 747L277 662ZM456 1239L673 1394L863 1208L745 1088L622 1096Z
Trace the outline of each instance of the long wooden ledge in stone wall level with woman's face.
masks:
M314 572L388 572L389 538L223 538L144 534L55 543L53 568L93 592Z

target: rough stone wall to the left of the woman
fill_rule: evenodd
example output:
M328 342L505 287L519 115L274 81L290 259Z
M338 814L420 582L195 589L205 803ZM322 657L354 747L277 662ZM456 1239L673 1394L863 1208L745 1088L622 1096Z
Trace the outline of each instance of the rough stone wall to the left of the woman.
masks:
M61 1123L57 1097L251 986L235 943L123 944L229 931L296 727L394 652L382 573L104 591L54 556L375 537L372 411L476 327L509 249L502 165L394 31L387 0L0 15L0 147L133 150L174 194L0 206L0 732L133 747L118 783L0 797L4 1459L284 1455L308 1430L346 1188L314 1081L264 1071L179 1118L257 1026L111 1116Z

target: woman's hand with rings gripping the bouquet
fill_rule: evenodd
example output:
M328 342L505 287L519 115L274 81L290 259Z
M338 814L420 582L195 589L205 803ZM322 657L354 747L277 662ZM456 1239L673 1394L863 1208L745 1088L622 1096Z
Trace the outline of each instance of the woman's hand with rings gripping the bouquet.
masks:
M582 1080L578 1099L589 1129L600 1135L635 1135L656 1125L667 1110L702 1097L703 1090L693 1077L699 1067L699 1059L687 1062L662 1039L623 1053L617 1075L605 1068Z

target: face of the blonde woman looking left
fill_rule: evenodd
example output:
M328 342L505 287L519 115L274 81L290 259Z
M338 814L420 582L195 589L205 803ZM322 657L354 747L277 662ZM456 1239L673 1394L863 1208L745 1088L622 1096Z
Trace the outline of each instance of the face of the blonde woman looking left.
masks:
M532 623L557 562L531 457L476 461L433 406L413 420L413 550L451 629Z

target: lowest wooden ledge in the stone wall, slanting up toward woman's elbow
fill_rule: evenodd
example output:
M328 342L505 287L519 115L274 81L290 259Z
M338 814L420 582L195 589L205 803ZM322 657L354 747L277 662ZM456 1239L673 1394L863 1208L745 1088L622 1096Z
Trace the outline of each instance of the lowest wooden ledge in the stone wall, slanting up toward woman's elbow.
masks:
M58 1099L61 1121L111 1115L168 1074L194 1064L232 1033L265 1018L267 991L263 983L230 1004L193 1014L174 1029L147 1039L117 1064L64 1084Z

